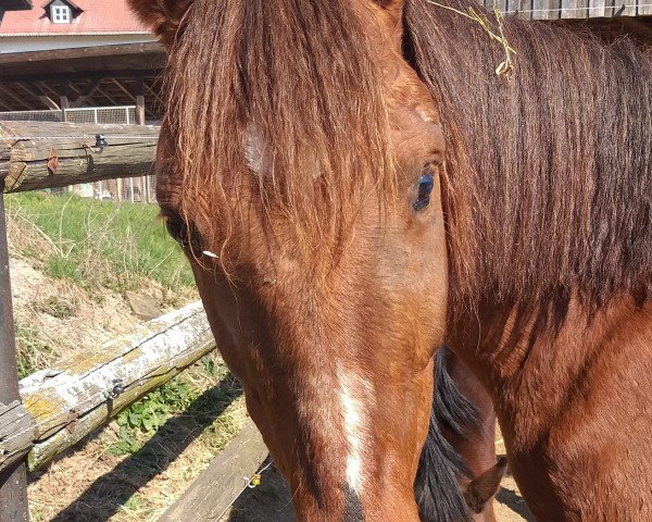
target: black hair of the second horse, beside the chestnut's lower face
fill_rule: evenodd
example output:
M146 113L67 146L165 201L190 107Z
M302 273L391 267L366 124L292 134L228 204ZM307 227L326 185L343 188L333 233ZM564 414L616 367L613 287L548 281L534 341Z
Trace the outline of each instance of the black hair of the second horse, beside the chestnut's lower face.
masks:
M472 478L464 460L441 433L444 425L463 435L479 425L479 414L457 389L447 370L448 348L435 356L435 397L430 426L422 449L414 494L422 522L471 521L471 511L460 489L459 476Z

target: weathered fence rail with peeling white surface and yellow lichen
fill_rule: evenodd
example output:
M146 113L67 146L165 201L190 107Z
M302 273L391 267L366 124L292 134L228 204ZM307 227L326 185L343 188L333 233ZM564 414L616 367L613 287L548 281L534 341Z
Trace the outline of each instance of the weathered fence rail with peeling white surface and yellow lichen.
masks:
M30 450L28 464L34 470L214 347L201 303L196 302L149 321L129 335L79 351L21 381L34 432L26 440L17 426L8 427L0 448L11 447L17 456ZM0 412L0 426L3 417ZM0 461L0 471L4 467Z

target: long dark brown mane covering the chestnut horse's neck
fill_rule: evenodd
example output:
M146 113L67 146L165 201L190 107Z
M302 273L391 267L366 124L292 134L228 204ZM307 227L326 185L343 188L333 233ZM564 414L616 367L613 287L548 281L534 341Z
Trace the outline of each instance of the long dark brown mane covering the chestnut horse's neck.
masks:
M442 4L442 5L441 5ZM628 39L507 17L505 49L457 11L410 0L405 49L447 139L443 195L453 306L649 296L652 57Z

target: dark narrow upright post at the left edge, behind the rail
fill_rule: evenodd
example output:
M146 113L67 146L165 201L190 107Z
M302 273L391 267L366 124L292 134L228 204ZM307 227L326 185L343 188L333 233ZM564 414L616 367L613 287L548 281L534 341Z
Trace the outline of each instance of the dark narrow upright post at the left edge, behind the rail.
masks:
M7 217L4 215L4 179L0 182L0 402L21 400L14 337ZM16 462L0 473L0 522L27 522L27 467Z

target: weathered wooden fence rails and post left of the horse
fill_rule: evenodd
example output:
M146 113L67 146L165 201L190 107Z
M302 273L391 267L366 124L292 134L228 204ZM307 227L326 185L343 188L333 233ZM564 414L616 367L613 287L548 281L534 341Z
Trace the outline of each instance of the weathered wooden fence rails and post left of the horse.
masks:
M215 348L197 302L17 382L2 194L151 173L158 135L153 126L0 123L0 522L28 520L27 469ZM247 424L162 520L218 520L266 455L260 433Z

